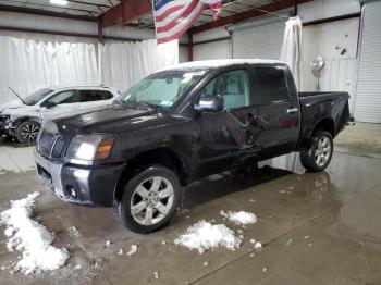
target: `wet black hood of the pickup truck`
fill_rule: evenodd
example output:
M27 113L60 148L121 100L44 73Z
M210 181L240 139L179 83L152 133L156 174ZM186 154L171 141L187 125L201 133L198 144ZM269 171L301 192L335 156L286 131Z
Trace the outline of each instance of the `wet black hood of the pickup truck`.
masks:
M98 107L65 117L46 121L53 122L61 134L118 133L131 125L155 120L158 113L147 110L135 110L125 106L111 104ZM139 125L139 124L138 124Z

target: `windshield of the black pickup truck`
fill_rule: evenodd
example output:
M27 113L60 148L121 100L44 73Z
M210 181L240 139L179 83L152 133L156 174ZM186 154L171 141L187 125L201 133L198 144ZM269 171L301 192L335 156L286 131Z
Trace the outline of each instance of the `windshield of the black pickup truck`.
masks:
M202 77L205 71L171 71L152 74L125 91L120 101L142 102L153 107L171 108Z

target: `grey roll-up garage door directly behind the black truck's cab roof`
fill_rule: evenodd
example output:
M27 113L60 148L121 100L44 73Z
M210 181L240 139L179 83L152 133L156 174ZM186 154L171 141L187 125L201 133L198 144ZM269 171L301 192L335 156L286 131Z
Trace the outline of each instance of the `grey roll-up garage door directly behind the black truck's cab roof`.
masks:
M272 59L279 60L282 50L285 22L253 24L233 30L234 59Z

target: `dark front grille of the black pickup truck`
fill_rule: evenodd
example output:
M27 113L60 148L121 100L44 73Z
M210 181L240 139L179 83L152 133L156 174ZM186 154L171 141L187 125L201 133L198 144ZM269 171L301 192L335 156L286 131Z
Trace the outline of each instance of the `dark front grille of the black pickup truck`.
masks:
M62 157L67 141L61 135L42 131L37 141L37 151L46 158L59 159Z

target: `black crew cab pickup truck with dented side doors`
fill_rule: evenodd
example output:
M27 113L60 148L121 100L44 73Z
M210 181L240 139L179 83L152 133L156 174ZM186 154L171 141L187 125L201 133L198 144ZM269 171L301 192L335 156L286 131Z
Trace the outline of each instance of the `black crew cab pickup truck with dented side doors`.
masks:
M114 207L125 226L150 233L176 212L182 186L207 175L292 151L308 171L324 170L348 98L298 94L278 61L184 63L112 106L48 120L37 173L64 201Z

